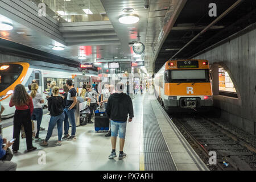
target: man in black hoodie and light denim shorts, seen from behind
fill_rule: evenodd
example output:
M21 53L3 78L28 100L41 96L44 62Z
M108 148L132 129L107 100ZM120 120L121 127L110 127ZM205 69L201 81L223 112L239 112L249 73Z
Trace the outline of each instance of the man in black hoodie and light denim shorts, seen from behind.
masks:
M108 104L106 106L106 114L111 119L111 143L112 152L109 155L109 159L115 158L115 144L117 143L117 134L119 133L119 160L126 157L123 153L123 146L125 145L125 134L127 117L129 114L129 122L133 121L133 102L131 97L123 93L123 84L119 82L116 86L117 93L110 95Z

